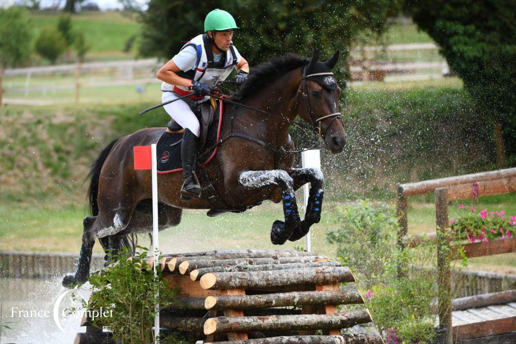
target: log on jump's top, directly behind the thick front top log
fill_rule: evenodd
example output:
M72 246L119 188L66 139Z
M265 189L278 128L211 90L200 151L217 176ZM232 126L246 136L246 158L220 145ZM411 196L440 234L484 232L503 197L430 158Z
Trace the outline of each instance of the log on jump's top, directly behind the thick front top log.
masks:
M314 261L302 263L286 263L286 264L259 264L259 265L232 265L219 266L212 268L196 269L190 272L192 280L199 280L202 276L210 272L241 272L241 271L267 271L267 270L285 270L298 268L316 268L316 267L341 267L342 264L337 261Z

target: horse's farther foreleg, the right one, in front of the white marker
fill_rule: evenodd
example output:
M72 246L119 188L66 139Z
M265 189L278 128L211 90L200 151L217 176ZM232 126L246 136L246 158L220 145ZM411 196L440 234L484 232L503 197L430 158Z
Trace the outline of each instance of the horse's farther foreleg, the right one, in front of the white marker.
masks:
M322 198L324 198L324 191L322 191L324 176L318 168L293 168L291 177L294 180L294 190L297 190L301 185L310 183L310 193L307 209L304 213L304 220L294 229L292 236L288 238L290 241L296 241L307 235L310 227L314 223L319 223L321 219Z

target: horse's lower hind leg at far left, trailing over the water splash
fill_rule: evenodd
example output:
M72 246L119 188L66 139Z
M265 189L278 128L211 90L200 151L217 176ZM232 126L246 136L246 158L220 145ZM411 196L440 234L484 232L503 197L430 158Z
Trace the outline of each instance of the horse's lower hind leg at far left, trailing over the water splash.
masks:
M66 275L63 278L62 285L72 287L76 284L83 284L88 280L90 273L91 254L93 245L95 244L95 236L92 233L92 224L95 217L86 216L84 218L83 243L80 247L79 259L77 261L77 270L74 275Z

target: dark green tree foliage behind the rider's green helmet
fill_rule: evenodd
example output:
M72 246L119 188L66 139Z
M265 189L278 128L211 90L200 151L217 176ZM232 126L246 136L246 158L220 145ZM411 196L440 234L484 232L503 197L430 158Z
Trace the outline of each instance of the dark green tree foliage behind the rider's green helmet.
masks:
M370 30L381 34L398 3L212 0L192 7L179 0L151 0L148 10L141 12L144 28L140 52L169 59L179 51L182 41L202 33L209 11L221 8L235 17L240 27L234 36L235 45L251 65L287 52L311 56L320 48L322 56L340 49L342 66L357 32Z

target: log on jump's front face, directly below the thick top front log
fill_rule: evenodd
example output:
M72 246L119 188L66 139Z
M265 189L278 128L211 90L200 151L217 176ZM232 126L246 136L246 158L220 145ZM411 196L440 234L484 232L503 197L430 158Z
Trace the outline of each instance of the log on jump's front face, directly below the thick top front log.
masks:
M301 291L259 295L208 296L204 302L206 309L248 309L302 305L347 305L363 304L358 291Z

